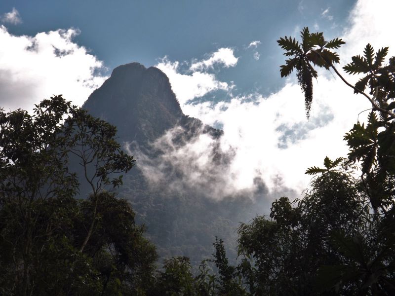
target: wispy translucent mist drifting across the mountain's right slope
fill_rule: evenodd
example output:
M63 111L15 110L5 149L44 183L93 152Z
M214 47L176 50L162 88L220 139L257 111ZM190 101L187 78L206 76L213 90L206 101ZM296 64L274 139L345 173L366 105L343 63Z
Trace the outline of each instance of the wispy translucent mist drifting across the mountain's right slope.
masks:
M193 134L191 130L194 130ZM124 148L128 153L138 155L139 168L151 185L178 194L194 192L215 200L242 197L260 202L270 202L279 191L296 195L278 176L270 180L269 190L267 180L263 180L259 170L246 172L250 174L248 177L242 174L241 151L228 140L227 137L211 136L202 126L192 124L188 130L181 126L168 130L151 143L155 152L149 156L134 142L125 143Z

